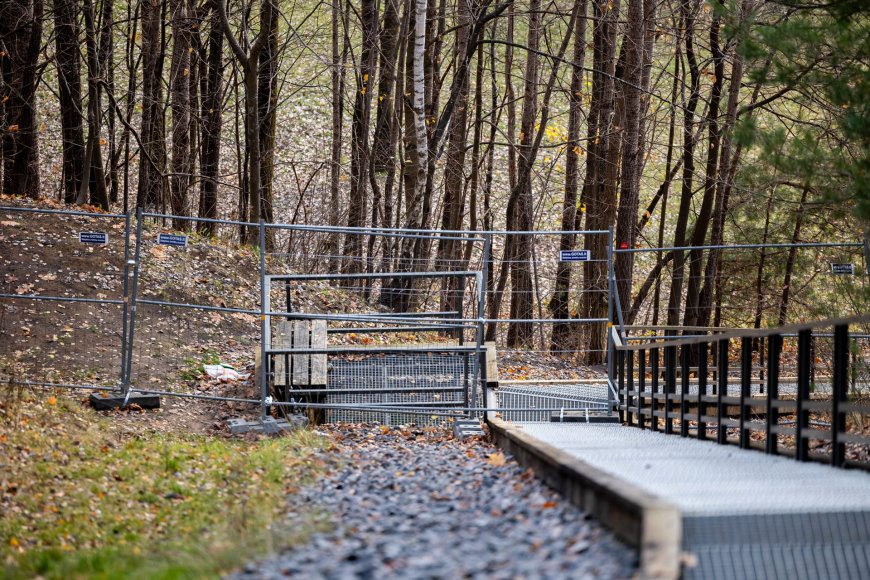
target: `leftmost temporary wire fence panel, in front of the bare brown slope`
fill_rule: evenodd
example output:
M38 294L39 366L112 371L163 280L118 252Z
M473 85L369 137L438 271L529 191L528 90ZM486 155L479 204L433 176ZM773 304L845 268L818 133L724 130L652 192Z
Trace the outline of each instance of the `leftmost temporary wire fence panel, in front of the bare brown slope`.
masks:
M0 222L0 380L117 389L129 217L2 207Z

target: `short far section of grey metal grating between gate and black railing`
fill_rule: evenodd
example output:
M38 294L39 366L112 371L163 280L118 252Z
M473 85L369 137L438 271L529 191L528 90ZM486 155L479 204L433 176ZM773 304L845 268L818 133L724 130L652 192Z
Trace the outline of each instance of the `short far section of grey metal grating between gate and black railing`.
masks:
M506 421L550 421L562 410L606 411L607 385L506 385L498 402Z

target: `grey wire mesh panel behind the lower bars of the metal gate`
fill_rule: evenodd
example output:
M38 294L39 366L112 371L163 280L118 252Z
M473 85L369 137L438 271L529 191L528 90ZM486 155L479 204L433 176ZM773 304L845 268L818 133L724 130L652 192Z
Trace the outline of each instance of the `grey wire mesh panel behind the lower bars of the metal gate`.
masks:
M443 423L447 420L445 410L465 405L471 358L447 353L331 357L325 402L369 410L331 408L326 420L379 421L385 425ZM412 407L414 412L370 410L379 406ZM438 414L426 414L427 407Z

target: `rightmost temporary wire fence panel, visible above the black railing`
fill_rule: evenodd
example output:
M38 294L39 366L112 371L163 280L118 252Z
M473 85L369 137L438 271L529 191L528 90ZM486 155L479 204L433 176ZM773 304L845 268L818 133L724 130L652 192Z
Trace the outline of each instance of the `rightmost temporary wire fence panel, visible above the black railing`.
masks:
M857 241L614 248L617 259L631 256L634 261L634 277L615 280L621 291L630 289L632 300L621 313L624 321L615 318L614 323L645 326L625 333L641 337L857 316L868 309L867 250L866 242ZM713 254L718 270L708 278L704 268ZM685 266L678 277L680 296L673 299L670 292L677 255ZM692 273L693 257L701 260L700 274ZM687 312L690 287L698 293L705 285L709 307L690 305ZM677 328L668 328L668 324Z

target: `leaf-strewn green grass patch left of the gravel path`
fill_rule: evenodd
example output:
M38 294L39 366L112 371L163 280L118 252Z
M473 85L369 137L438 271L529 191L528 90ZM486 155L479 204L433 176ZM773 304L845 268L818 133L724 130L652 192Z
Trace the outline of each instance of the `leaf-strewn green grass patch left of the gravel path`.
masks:
M0 397L4 578L217 577L326 527L314 512L282 519L287 495L327 468L310 431L123 439L77 401L26 397L14 413Z

